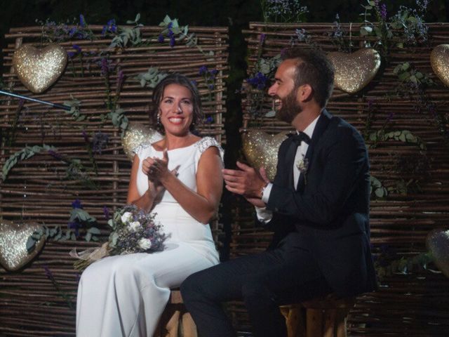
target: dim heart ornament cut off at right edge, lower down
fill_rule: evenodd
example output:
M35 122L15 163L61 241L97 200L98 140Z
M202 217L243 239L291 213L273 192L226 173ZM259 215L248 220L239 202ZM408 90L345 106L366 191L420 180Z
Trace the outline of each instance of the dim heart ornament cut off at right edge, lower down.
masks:
M431 230L426 238L427 249L445 277L449 277L449 230Z

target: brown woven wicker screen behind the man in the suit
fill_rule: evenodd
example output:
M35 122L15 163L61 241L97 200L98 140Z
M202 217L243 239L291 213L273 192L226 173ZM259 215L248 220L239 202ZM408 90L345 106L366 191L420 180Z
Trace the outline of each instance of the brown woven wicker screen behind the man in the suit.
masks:
M337 51L337 46L328 37L333 32L329 23L276 25L251 23L246 33L248 41L248 74L254 69L258 53L262 58L271 58L291 45L290 38L296 36L295 29L305 29L310 40L325 52ZM358 32L359 25L342 24L342 29ZM265 41L261 48L261 34ZM348 34L349 35L349 34ZM414 48L393 48L389 62L370 84L361 92L349 95L335 89L328 110L342 117L365 133L369 105L375 107L370 131L379 131L394 112L386 131L408 130L427 145L420 150L415 144L389 140L377 143L369 150L371 174L382 182L384 187L396 191L389 192L384 199L372 198L370 208L371 242L373 252L383 249L395 251L398 257L415 256L427 251L427 233L438 227L447 228L449 218L448 147L428 111L418 111L419 98L398 98L394 95L400 81L393 70L396 65L410 62L416 70L436 82L427 94L438 113L448 114L449 88L444 86L431 70L430 53L438 44L448 41L449 25L430 24L429 44ZM361 46L361 40L352 38L353 51ZM295 46L306 46L295 41ZM382 60L383 62L383 60ZM372 101L369 103L369 101ZM244 124L248 129L258 128L269 133L290 131L291 127L273 118L255 118L250 115L253 104L248 97L243 100ZM263 110L268 112L272 100L265 95ZM262 116L264 115L262 113ZM447 127L447 126L446 126ZM373 142L367 142L373 145ZM398 192L396 186L409 183L407 192ZM236 203L234 209L232 256L262 251L269 242L271 233L253 224L253 209L244 200ZM356 307L349 317L351 336L447 336L449 331L449 280L443 275L431 272L413 272L410 275L393 275L382 281L380 291L358 298ZM232 303L231 311L241 330L248 329L247 316L240 303Z

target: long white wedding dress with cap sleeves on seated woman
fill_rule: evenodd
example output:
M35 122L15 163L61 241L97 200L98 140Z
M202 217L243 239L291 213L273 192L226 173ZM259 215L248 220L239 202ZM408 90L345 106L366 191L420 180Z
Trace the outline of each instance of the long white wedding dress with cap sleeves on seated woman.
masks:
M179 166L177 177L196 191L196 171L201 154L220 145L202 138L188 147L168 151L168 169ZM152 145L140 145L137 185L139 194L148 189L142 160L162 157ZM210 176L210 179L215 177ZM165 249L155 253L110 256L90 265L81 276L76 303L78 337L152 337L166 307L170 289L189 275L219 262L209 225L192 218L165 191L152 210L168 234Z

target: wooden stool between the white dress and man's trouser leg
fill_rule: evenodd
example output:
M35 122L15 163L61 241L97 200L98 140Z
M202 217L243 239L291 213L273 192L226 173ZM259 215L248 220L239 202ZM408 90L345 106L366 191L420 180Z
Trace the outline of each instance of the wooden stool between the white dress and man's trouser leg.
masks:
M181 292L172 290L154 337L197 337L196 325L185 309Z

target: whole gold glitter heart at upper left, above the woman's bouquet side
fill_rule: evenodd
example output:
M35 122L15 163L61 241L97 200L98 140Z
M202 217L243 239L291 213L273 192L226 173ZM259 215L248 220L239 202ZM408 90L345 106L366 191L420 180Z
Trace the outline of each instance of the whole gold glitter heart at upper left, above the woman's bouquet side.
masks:
M44 48L25 45L13 55L18 78L29 91L42 93L61 76L67 65L67 53L58 44Z

